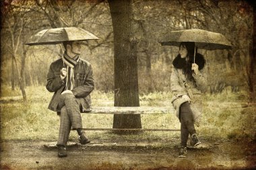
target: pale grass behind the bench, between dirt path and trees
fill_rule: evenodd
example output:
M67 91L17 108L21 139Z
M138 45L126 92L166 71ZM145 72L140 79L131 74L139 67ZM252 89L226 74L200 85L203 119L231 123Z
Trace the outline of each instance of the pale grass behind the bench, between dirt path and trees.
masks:
M48 110L53 93L45 87L27 87L28 101L22 102L20 91L1 88L1 139L3 140L57 140L59 116ZM93 91L93 106L113 106L113 93ZM242 97L241 97L242 96ZM140 95L141 106L171 106L172 93L156 92ZM255 107L243 108L247 93L224 92L218 95L205 94L204 112L199 136L204 138L252 138L255 140ZM241 104L242 103L242 104ZM86 128L112 128L113 115L86 114L82 116ZM143 128L179 128L180 123L174 114L141 115ZM116 134L106 131L88 131L90 138L115 139ZM167 140L179 138L179 132L143 132L122 136L124 140ZM76 132L71 132L71 140L77 140Z

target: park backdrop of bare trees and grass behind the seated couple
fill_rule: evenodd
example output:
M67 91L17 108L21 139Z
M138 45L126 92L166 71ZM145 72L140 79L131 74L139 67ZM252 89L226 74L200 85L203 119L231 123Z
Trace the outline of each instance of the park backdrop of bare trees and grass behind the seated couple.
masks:
M206 59L208 90L198 132L205 138L255 141L255 56L253 5L247 1L131 1L140 106L172 107L170 74L179 48L159 41L172 30L199 28L226 36L232 50L199 50ZM28 46L36 32L79 27L100 40L90 40L81 58L92 64L95 89L92 108L115 101L114 32L108 1L1 1L1 140L57 140L59 118L47 110L53 93L46 91L51 62L60 45ZM130 38L131 38L130 37ZM254 72L253 72L254 71ZM132 79L127 75L127 79ZM112 128L111 115L86 115L88 128ZM143 128L179 128L174 114L141 116ZM88 132L92 138L115 138ZM179 133L144 132L140 138L179 138ZM131 135L137 138L135 134ZM150 137L149 137L150 136ZM124 137L124 138L133 138ZM71 133L71 141L77 140Z

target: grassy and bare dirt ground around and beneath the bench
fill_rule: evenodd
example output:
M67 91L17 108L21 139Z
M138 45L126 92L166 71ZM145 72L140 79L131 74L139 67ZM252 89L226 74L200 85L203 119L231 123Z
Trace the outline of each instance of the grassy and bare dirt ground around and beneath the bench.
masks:
M51 93L45 87L28 88L29 101L22 95L0 97L0 169L256 169L256 103L247 93L204 96L204 112L197 134L199 148L190 148L179 158L180 132L143 132L117 135L88 131L90 144L77 144L71 132L68 156L57 157L59 117L47 107ZM38 93L40 91L40 93ZM36 94L36 95L34 95ZM113 93L95 92L95 106L113 106ZM140 105L170 106L171 93L140 96ZM15 108L15 109L13 109ZM85 128L112 128L113 115L84 114ZM175 114L141 114L143 128L180 128Z

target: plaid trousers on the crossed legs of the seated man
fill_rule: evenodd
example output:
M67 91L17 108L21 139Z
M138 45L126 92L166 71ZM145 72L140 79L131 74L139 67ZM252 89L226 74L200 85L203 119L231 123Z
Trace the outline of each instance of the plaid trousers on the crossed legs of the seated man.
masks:
M59 107L61 108L61 118L57 145L66 146L71 128L82 128L82 118L79 103L71 93L64 93L60 96Z

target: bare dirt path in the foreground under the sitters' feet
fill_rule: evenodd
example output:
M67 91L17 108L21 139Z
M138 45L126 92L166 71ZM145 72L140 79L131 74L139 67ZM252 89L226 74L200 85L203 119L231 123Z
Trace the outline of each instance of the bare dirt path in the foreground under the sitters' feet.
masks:
M256 169L256 144L205 141L179 158L179 139L69 143L68 157L58 158L55 142L2 141L1 169Z

